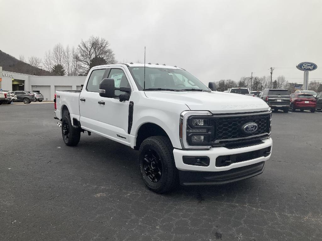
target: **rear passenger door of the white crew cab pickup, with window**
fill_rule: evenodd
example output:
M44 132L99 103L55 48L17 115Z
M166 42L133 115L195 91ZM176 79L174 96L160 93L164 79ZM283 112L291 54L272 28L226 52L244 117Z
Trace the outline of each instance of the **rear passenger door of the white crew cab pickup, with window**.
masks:
M81 126L90 131L97 131L98 124L98 98L99 83L101 82L106 68L94 69L83 87L79 98Z

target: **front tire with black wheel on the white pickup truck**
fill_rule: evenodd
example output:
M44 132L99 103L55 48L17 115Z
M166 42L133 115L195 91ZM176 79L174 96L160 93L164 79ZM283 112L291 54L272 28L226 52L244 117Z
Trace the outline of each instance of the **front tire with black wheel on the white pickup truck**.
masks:
M169 192L179 183L173 146L165 136L149 137L142 142L138 164L143 182L153 192Z

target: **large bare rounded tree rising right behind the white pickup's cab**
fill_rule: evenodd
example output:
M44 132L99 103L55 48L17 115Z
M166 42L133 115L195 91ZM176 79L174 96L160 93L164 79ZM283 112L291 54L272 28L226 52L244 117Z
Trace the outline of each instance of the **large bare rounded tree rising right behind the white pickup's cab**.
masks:
M89 40L81 40L75 58L79 61L82 74L87 74L93 59L104 58L107 64L115 64L116 60L109 41L91 36Z

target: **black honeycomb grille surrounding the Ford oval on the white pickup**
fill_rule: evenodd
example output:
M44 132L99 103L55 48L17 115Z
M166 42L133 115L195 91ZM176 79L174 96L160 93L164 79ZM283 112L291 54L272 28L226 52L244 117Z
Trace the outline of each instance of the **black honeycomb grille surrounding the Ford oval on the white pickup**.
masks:
M252 134L242 131L242 126L249 122L255 122L258 129ZM261 135L270 132L270 114L215 117L215 140L225 140L232 138L245 138Z

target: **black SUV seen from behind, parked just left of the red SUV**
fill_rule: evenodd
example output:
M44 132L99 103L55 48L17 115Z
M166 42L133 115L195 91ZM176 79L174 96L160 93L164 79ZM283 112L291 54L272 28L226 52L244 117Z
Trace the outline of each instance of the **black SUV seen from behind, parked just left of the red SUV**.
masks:
M278 110L283 110L285 113L289 112L290 97L288 90L265 89L257 96L265 101L274 112Z

